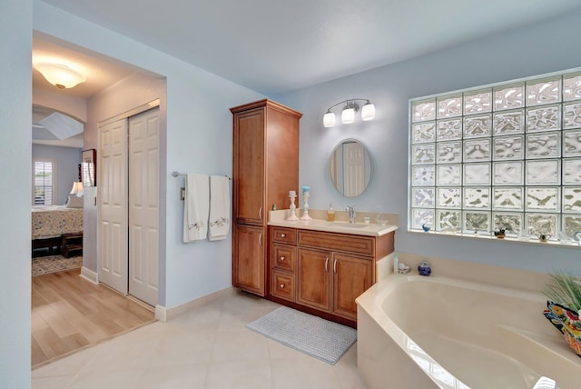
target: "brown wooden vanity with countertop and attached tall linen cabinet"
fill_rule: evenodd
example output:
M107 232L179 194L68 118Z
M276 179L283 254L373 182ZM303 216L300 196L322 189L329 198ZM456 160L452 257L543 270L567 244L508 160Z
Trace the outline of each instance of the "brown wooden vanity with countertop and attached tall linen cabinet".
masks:
M301 114L268 99L231 113L232 285L356 326L355 299L376 283L376 263L393 252L397 226L287 222L284 210L267 218L299 189Z

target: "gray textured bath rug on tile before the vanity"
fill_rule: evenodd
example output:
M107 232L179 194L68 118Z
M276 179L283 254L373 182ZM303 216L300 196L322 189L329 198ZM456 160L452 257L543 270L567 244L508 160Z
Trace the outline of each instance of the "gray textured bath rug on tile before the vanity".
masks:
M336 364L357 340L357 330L281 306L247 325L280 344Z

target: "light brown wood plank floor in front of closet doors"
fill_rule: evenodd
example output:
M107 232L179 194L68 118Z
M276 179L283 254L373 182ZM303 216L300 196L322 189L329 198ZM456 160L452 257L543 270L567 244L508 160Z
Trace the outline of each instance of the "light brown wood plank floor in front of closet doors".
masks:
M32 278L33 369L154 320L151 308L92 284L80 273Z

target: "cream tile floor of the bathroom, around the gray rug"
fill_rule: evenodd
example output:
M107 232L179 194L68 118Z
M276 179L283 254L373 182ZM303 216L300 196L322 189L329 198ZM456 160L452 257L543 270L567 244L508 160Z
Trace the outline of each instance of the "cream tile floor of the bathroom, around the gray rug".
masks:
M252 332L279 305L239 292L32 372L33 389L364 389L357 344L335 365Z

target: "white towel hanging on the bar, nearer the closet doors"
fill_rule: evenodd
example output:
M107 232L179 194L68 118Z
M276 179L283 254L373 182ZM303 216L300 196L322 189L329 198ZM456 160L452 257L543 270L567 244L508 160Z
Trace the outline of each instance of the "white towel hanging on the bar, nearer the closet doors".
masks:
M186 175L183 202L183 243L206 238L210 210L208 175Z

